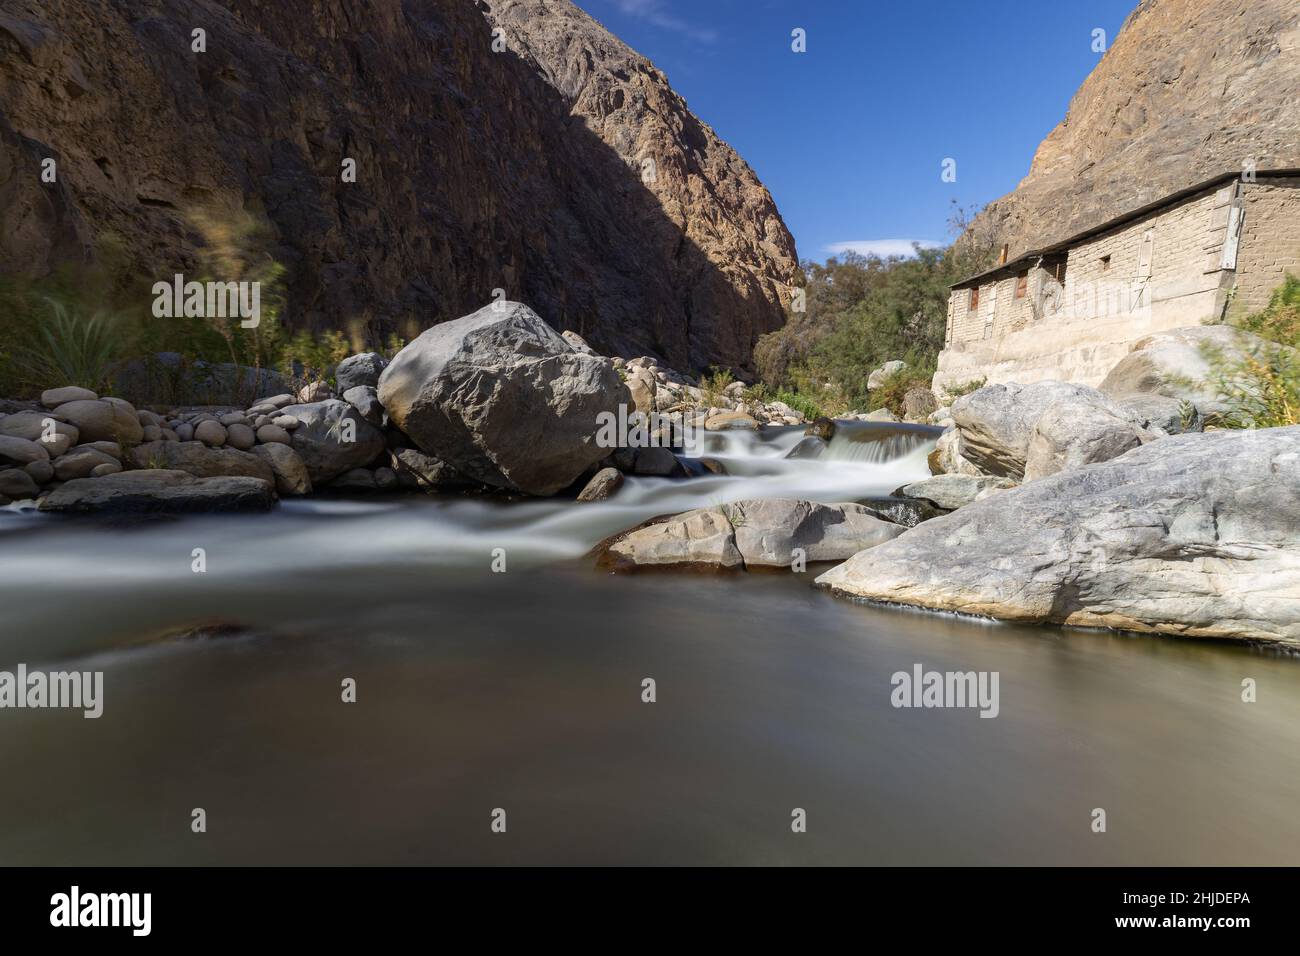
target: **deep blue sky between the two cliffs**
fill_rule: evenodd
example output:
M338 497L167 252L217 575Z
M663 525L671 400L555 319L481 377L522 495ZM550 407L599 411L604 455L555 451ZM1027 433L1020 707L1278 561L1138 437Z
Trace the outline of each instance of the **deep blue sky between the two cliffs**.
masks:
M1039 142L1136 0L576 0L662 69L824 260L950 241ZM807 52L790 49L802 27ZM956 160L956 182L941 165Z

